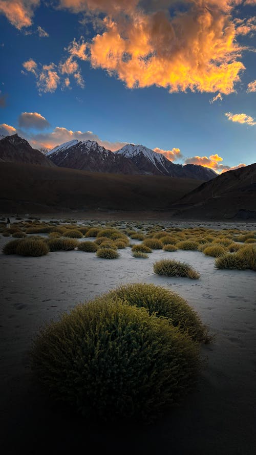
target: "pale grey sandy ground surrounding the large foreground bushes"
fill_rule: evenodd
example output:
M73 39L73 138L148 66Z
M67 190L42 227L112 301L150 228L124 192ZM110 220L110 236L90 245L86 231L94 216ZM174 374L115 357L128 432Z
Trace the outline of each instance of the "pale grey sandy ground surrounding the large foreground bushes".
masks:
M9 240L1 237L1 250ZM153 263L170 256L193 265L201 278L154 275ZM148 259L138 259L130 248L112 261L81 251L37 258L1 253L0 267L2 453L93 453L99 448L112 453L254 455L255 272L217 270L214 258L200 252L154 251ZM31 340L42 323L78 302L138 281L177 291L216 341L202 346L208 360L194 392L161 420L150 426L93 426L51 403L41 391L29 369Z

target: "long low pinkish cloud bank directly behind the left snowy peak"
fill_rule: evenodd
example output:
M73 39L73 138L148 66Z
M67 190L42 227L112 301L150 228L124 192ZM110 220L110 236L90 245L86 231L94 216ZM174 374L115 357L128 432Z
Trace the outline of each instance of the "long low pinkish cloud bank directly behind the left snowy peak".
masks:
M82 133L81 131L72 131L64 127L57 126L51 133L39 133L26 135L26 139L34 148L53 148L56 145L62 144L63 142L71 141L72 139L78 139L79 141L96 141L99 145L115 151L123 147L126 142L110 142L101 140L96 134L91 131Z

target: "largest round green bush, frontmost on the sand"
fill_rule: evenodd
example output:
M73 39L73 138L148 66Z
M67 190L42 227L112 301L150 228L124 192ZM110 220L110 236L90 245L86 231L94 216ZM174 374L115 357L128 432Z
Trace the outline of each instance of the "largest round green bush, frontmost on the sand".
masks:
M35 339L32 369L84 416L150 419L195 382L198 345L167 320L120 300L78 305Z

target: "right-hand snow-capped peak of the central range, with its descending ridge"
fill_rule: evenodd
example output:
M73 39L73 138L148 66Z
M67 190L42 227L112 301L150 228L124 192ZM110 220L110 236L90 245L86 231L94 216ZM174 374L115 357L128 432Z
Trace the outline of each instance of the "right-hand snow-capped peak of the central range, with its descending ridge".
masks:
M126 144L115 154L132 160L141 174L185 177L198 180L210 180L217 177L214 170L195 164L174 164L161 153L144 145Z

